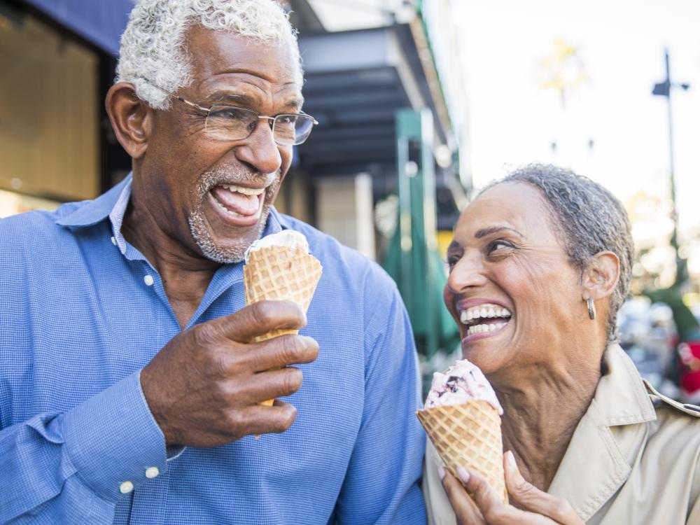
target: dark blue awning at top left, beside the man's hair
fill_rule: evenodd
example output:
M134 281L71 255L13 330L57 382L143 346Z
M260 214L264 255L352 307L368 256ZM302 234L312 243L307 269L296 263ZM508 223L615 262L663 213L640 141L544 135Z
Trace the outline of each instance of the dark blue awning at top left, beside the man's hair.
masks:
M134 8L130 0L25 0L112 55Z

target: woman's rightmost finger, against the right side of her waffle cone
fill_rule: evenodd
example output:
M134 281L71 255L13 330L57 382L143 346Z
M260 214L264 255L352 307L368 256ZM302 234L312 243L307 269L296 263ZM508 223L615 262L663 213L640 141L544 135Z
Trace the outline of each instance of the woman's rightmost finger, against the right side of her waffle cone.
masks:
M522 477L511 451L503 454L503 467L505 468L505 486L513 503L517 503L524 510L548 516L561 524L584 523L567 500L540 491Z

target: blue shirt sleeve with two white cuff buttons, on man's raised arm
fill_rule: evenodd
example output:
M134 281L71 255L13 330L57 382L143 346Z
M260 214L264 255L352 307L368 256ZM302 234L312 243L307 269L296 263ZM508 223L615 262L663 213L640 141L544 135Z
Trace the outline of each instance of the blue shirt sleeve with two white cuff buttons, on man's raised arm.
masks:
M0 523L111 524L125 493L165 472L165 437L139 377L0 430Z

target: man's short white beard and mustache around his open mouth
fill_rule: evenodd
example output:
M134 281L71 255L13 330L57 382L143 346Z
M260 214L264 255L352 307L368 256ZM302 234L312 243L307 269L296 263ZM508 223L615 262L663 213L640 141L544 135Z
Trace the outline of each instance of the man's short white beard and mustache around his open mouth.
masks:
M267 190L265 190L265 202L262 203L262 211L260 212L260 221L258 221L258 225L255 226L258 231L255 232L253 239L237 239L232 243L228 243L227 246L218 246L214 242L214 239L212 239L209 228L207 228L207 221L204 220L204 200L207 199L209 190L214 188L214 186L220 186L221 184L235 185L246 181L258 184L264 182L265 186L267 186ZM280 183L281 176L279 172L263 175L251 173L242 169L217 168L204 173L197 183L197 188L195 188L199 205L188 217L190 232L192 232L192 237L195 239L197 246L200 247L200 250L202 250L204 257L214 262L220 262L221 264L230 264L232 262L241 262L241 260L244 260L248 246L250 246L253 241L260 239L262 232L265 230L267 216L269 216L269 210L272 208L272 200L279 189Z

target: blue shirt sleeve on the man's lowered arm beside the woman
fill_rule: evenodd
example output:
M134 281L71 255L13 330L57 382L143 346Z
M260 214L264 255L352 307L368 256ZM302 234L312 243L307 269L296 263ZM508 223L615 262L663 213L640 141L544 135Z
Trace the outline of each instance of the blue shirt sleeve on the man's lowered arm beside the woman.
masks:
M421 407L418 360L398 290L385 274L380 277L386 280L365 283L363 419L335 520L424 524L419 483L425 434L415 415Z

